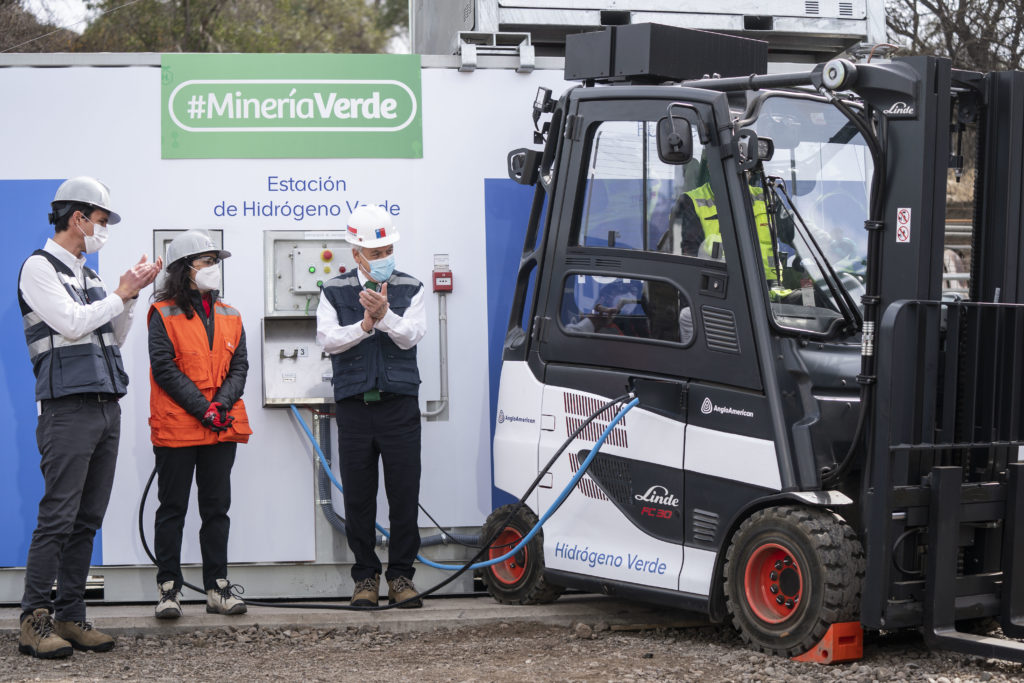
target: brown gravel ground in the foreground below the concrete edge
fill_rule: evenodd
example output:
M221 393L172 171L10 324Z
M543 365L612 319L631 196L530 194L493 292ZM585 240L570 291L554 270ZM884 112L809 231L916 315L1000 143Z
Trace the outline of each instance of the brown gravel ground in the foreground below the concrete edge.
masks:
M382 633L245 629L123 636L106 653L42 661L0 640L0 680L158 681L1024 681L1021 665L930 652L920 637L874 636L864 658L830 667L746 649L725 627L624 632L497 624Z

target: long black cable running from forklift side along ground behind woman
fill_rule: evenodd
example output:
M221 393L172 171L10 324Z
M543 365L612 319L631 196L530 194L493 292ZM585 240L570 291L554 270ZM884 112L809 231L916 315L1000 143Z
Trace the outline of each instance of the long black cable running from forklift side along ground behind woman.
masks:
M369 606L369 607L353 607L351 605L335 605L335 604L313 603L313 602L267 602L265 600L246 600L245 601L246 604L255 605L255 606L259 606L259 607L293 607L293 608L297 608L297 609L341 609L341 610L345 610L345 611L384 611L385 609L394 609L396 607L401 607L402 605L404 605L407 603L413 602L414 600L418 600L420 598L424 598L424 597L426 597L428 595L431 595L432 593L435 593L435 592L439 591L440 589L444 588L445 586L447 586L449 584L451 584L453 581L455 581L456 579L458 579L459 577L461 577L462 574L464 574L466 572L466 570L469 569L470 566L472 566L473 564L475 564L477 561L480 560L481 557L483 557L484 553L486 553L488 550L493 550L493 548L490 547L490 544L494 543L495 539L497 539L498 535L501 533L502 530L505 529L505 527L508 525L508 523L510 521L512 521L513 517L515 517L515 515L518 514L518 512L522 508L522 506L526 504L526 499L529 498L530 494L532 494L534 490L541 484L541 481L544 479L544 475L548 473L548 470L550 470L551 467L555 464L555 461L558 460L558 457L561 456L562 453L564 453L565 449L567 449L569 446L569 444L573 440L575 440L577 436L579 436L580 433L591 422L593 422L598 416L600 416L602 413L604 413L605 411L607 411L608 409L610 409L612 405L614 405L616 403L623 402L624 400L626 400L627 398L629 398L631 395L632 394L627 393L627 394L623 394L622 396L616 396L615 398L612 398L607 403L605 403L604 405L602 405L601 408L599 408L597 411L595 411L594 413L592 413L590 415L590 417L588 417L587 420L584 421L583 424L581 424L571 434L569 434L568 437L566 437L566 439L564 441L562 441L562 444L561 444L561 446L559 446L558 451L555 452L555 454L551 457L551 459L544 466L544 468L538 473L537 478L534 479L534 482L526 489L526 493L524 493L519 498L519 501L512 507L512 509L509 511L508 515L505 517L505 519L502 521L502 523L498 525L498 527L495 530L495 532L490 536L489 539L486 540L485 543L483 543L480 546L479 551L469 561L467 561L462 566L461 569L456 570L455 573L453 573L451 577L449 577L447 579L445 579L441 583L439 583L439 584L437 584L435 586L432 586L431 588L428 588L425 591L421 591L420 593L418 593L417 595L413 596L412 598L409 598L408 600L402 600L401 602L394 602L394 603L387 604L387 605L374 605L374 606ZM145 482L145 487L142 489L142 498L139 501L139 505L138 505L138 536L139 536L139 540L142 542L142 549L145 550L145 554L148 556L150 560L154 564L157 564L157 558L154 557L153 553L150 551L150 546L148 546L148 544L145 541L145 527L144 527L144 525L142 523L142 512L145 509L145 500L148 497L150 488L153 485L153 479L156 476L157 476L157 468L156 468L156 466L154 466L153 472L150 474L150 479L148 479L148 481ZM566 500L567 500L567 497L566 497ZM561 507L561 506L559 506L559 507ZM508 547L508 546L507 545L506 546L501 546L498 549L503 548L503 547ZM182 585L190 588L191 590L194 590L194 591L196 591L198 593L204 593L204 594L206 593L206 591L203 591L199 587L194 586L194 585L191 585L191 584L189 584L189 583L187 583L185 581L182 581ZM234 594L236 597L241 597L241 595L245 593L245 588L243 586L239 586L237 584L230 584L230 590L232 591L232 593Z

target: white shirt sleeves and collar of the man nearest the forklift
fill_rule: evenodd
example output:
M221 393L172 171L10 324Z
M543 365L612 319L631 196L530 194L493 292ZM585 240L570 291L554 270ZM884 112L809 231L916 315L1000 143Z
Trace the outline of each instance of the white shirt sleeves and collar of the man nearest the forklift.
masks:
M359 285L366 287L368 278L357 270ZM374 323L370 332L362 331L362 319L352 325L342 326L338 322L338 311L334 309L327 297L321 295L316 306L316 343L328 353L347 351L365 339L370 339L378 331L385 333L400 349L413 348L423 335L427 334L427 310L423 303L423 291L413 296L406 312L399 315L389 307L384 317Z

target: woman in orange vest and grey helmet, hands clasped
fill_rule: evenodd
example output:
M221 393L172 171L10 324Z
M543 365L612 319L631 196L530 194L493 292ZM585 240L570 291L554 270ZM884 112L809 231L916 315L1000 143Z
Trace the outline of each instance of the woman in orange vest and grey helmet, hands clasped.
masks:
M199 492L206 610L241 614L227 581L231 466L252 430L242 401L249 360L239 311L218 300L220 261L203 230L167 248L167 270L150 307L150 427L157 460L155 551L159 618L181 615L181 532L193 475Z

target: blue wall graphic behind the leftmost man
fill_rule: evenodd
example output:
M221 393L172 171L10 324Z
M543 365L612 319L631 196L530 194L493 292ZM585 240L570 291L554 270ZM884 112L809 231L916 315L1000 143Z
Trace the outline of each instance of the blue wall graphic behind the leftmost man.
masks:
M7 273L0 288L0 566L25 566L32 531L36 528L43 475L36 445L36 379L25 345L22 311L17 305L17 274L22 263L53 236L46 222L50 201L61 180L0 180L0 206L4 207L4 249L0 270ZM87 260L96 268L95 255ZM96 533L92 563L102 563L100 535Z

